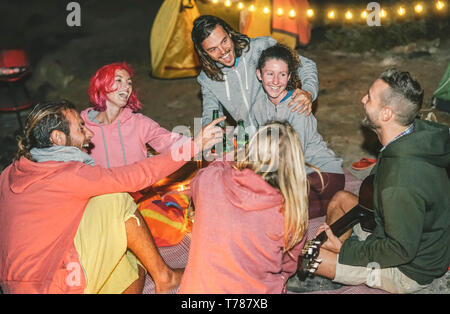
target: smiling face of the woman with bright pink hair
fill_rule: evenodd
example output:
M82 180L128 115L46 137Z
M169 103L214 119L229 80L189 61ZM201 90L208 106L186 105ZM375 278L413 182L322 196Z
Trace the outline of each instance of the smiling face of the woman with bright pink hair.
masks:
M130 74L123 69L116 70L111 90L112 92L106 94L106 107L125 107L133 91Z

